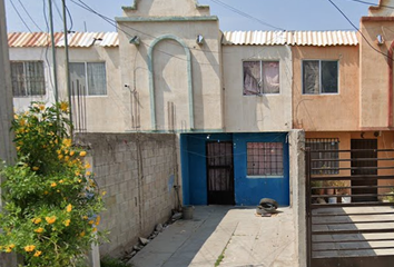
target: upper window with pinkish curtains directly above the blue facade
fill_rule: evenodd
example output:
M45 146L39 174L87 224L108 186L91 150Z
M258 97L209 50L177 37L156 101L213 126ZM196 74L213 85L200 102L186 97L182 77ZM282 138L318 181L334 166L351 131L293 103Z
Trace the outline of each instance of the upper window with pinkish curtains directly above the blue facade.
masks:
M278 61L244 61L244 96L279 93Z

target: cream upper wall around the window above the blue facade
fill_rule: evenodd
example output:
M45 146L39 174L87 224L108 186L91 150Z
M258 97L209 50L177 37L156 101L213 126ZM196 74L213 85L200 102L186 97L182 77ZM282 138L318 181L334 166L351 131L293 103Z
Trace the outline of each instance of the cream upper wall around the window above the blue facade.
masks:
M243 61L279 61L280 93L243 96ZM292 129L292 50L287 46L224 46L225 125L227 132Z

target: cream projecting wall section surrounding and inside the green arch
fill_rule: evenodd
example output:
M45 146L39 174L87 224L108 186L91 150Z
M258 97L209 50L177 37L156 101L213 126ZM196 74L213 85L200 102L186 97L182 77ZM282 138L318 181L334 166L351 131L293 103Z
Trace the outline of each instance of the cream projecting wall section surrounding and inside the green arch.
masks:
M135 116L140 121L140 128L127 125L126 129L152 130L148 50L156 38L171 34L181 39L191 53L195 129L221 130L221 46L218 21L119 22L119 26L121 27L119 51L122 83L129 85L139 97L137 102L130 103L130 91L124 93L125 107L131 110L137 109L135 113L128 116L130 118L127 120L131 121L131 116ZM145 32L145 34L140 32ZM203 46L196 43L197 34L204 36ZM140 36L141 43L138 47L129 43L132 36ZM177 105L175 130L178 131L189 130L190 126L187 118L189 105L184 103L185 96L178 99L176 95L177 91L188 90L186 68L186 56L178 42L162 40L157 43L154 50L156 116L158 112L164 112L161 117L168 118L167 101L175 100ZM176 85L174 83L175 78L177 79ZM173 91L169 90L171 85L177 87L175 90L173 87ZM166 96L160 91L165 91ZM164 110L162 107L165 107ZM166 120L157 121L158 130L168 130ZM186 120L186 127L183 120Z

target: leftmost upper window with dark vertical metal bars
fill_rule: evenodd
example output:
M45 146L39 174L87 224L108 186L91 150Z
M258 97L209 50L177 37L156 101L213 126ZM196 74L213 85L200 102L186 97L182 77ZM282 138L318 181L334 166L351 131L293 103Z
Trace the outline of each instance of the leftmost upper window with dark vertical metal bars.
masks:
M14 97L46 95L43 61L11 61L11 81Z

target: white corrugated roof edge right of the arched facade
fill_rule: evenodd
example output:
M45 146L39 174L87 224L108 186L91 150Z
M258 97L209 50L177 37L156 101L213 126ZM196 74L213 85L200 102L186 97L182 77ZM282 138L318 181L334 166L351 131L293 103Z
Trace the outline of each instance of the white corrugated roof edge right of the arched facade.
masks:
M225 46L357 46L356 31L225 31Z

